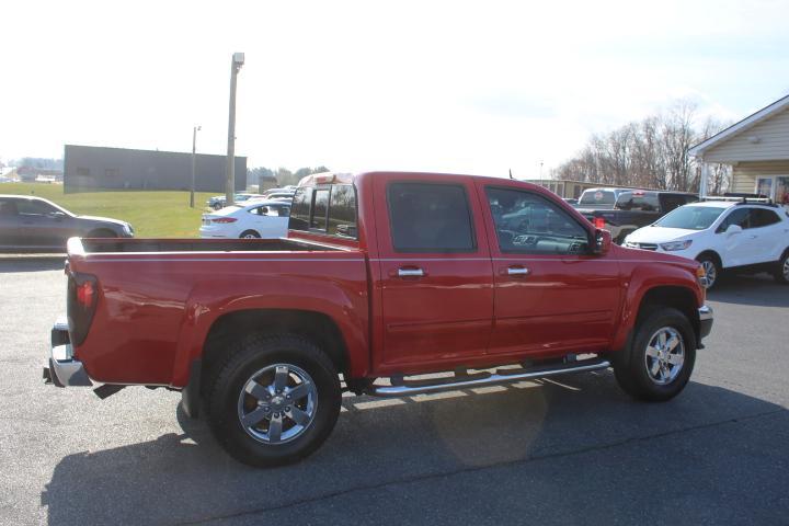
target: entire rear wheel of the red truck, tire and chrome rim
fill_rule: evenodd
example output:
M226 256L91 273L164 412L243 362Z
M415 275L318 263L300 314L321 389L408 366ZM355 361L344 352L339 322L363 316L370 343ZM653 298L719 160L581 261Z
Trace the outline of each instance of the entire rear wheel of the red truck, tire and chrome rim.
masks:
M296 335L253 335L218 370L208 422L237 460L254 467L295 462L327 439L340 414L334 364Z

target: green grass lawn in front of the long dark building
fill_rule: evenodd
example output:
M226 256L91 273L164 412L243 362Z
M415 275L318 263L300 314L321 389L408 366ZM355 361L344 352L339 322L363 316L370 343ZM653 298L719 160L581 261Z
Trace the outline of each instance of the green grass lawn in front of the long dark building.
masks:
M3 183L0 194L35 195L67 210L87 216L128 221L136 238L194 238L201 226L206 199L216 192L195 192L195 207L188 192L122 191L64 194L61 184Z

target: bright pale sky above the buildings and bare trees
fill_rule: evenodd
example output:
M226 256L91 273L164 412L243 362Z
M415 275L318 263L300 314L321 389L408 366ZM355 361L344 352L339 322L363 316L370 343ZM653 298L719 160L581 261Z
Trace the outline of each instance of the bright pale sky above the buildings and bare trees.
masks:
M0 158L64 144L542 175L690 98L740 119L789 93L781 1L3 1Z

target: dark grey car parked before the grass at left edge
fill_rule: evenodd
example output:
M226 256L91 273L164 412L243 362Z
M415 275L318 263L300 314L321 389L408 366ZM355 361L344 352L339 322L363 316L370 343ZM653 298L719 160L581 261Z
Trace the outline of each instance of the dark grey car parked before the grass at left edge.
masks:
M0 195L0 250L64 251L75 236L132 238L134 229L117 219L78 216L41 197Z

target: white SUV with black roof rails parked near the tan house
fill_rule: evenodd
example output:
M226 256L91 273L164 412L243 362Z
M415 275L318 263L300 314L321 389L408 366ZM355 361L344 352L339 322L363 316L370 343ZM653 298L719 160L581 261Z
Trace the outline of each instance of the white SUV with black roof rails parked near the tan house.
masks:
M767 271L778 283L789 283L789 213L775 205L693 203L636 230L625 245L700 262L707 288L729 268Z

